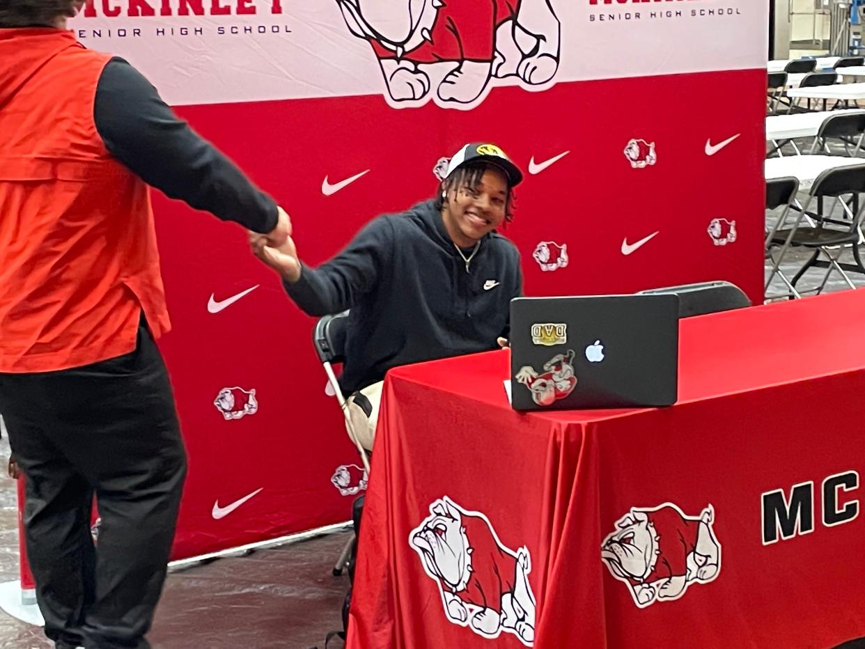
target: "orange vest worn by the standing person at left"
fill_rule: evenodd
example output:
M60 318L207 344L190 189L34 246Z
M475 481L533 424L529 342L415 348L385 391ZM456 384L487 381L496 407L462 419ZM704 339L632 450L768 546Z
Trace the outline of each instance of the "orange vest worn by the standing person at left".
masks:
M0 372L135 349L170 329L150 190L93 121L111 55L61 29L0 29Z

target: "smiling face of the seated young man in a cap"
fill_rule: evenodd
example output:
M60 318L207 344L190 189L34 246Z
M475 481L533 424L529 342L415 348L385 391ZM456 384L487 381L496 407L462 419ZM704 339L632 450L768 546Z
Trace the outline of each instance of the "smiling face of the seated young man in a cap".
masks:
M441 216L447 234L459 247L474 246L505 220L508 181L496 167L468 169L457 183L445 183L442 189L446 196Z

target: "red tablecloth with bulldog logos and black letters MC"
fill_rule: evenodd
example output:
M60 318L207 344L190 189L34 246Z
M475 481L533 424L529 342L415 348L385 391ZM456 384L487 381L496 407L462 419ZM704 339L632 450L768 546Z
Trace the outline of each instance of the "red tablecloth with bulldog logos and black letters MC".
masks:
M519 414L508 364L388 376L349 647L865 636L865 291L683 321L672 408Z

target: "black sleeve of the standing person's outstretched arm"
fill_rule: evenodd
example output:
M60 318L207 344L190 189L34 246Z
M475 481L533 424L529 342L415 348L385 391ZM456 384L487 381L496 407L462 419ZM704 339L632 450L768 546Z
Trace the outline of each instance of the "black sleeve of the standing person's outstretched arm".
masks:
M103 69L93 119L112 156L165 195L255 232L276 226L273 199L179 119L123 59L115 57Z

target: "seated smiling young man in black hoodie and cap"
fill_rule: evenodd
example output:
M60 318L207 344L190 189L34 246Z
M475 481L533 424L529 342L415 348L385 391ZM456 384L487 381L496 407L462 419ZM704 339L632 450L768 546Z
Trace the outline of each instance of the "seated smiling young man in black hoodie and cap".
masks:
M510 220L521 181L496 145L469 144L451 158L437 196L369 222L320 267L305 266L291 238L269 247L251 235L253 252L304 312L350 309L340 385L371 402L369 435L358 431L364 447L372 447L388 369L492 350L508 336L522 273L516 247L497 228Z

